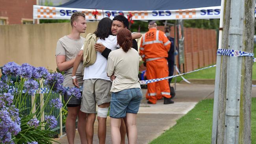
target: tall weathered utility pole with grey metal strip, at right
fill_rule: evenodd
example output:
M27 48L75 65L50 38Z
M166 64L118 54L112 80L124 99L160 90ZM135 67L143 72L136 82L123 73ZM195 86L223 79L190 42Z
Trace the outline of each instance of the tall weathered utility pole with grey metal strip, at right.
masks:
M253 52L254 9L255 0L224 0L221 48ZM250 144L252 57L221 56L217 65L211 143Z

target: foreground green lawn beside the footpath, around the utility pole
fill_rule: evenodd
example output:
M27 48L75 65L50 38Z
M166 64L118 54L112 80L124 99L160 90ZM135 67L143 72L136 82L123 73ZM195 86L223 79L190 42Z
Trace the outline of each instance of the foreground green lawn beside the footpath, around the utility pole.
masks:
M252 144L256 144L256 98L252 98ZM194 109L177 120L177 124L165 131L150 144L210 144L213 99L199 102Z

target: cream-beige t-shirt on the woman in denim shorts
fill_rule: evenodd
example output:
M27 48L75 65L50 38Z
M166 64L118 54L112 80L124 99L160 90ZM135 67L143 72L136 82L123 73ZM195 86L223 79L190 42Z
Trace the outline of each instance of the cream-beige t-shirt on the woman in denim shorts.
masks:
M108 55L107 74L114 74L111 92L124 89L141 88L139 84L139 53L131 48L125 53L122 48L113 50Z

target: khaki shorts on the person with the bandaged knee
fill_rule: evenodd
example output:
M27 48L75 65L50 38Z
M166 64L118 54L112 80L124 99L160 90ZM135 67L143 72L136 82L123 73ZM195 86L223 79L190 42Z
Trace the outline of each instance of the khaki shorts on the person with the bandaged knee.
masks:
M111 82L104 79L83 80L83 97L81 111L83 113L96 113L96 103L101 105L111 100Z

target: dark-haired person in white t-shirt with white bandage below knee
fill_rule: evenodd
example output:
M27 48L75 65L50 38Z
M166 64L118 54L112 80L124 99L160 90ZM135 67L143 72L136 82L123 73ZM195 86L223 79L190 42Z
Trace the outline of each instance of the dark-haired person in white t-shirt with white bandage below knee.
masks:
M106 141L106 119L108 115L109 102L111 100L111 81L106 73L107 59L96 52L94 48L95 42L108 46L111 50L119 48L117 44L117 36L111 35L112 20L110 18L102 18L98 23L98 27L94 34L88 34L85 44L78 53L72 72L73 84L78 86L76 79L76 70L83 57L83 95L81 109L83 113L87 113L86 120L86 137L87 143L93 142L93 126L96 118L96 104L98 105L98 138L100 144ZM85 49L84 49L85 48ZM90 50L88 50L90 49ZM87 51L88 50L88 51ZM87 52L91 52L88 54ZM95 53L95 56L91 57ZM94 59L89 64L86 57Z

